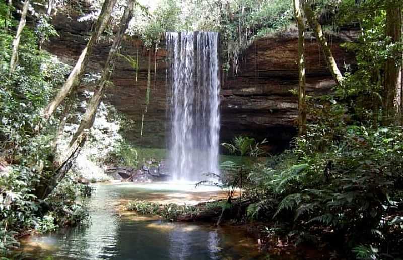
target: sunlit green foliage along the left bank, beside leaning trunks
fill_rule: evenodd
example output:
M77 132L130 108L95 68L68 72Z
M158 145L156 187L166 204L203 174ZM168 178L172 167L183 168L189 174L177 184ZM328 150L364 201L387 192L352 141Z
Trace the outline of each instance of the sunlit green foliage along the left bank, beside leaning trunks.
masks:
M5 6L0 5L0 20ZM8 22L9 23L9 22ZM16 21L12 21L16 24ZM18 66L9 77L12 32L0 28L0 251L8 255L19 246L15 236L36 229L49 232L78 223L87 210L76 203L74 181L59 185L46 201L35 189L53 172L55 121L44 125L41 111L64 81L70 68L46 51L38 50L38 36L46 40L56 32L49 24L25 27L18 49ZM7 167L3 167L6 165ZM87 194L89 192L87 191Z

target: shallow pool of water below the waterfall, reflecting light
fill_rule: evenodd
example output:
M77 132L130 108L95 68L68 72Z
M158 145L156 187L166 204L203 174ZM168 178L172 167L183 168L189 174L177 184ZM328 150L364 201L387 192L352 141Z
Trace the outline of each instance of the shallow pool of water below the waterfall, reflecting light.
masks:
M214 190L186 189L183 185L95 185L89 202L91 222L57 233L32 236L22 250L32 259L266 259L257 241L235 227L171 223L156 217L119 210L133 199L188 202L218 196ZM273 259L273 257L271 257Z

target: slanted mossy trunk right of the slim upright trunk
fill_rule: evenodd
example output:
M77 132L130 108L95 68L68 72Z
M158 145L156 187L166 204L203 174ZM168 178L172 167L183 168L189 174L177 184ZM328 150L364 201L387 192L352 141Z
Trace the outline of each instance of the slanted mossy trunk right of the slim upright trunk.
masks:
M319 45L323 51L327 67L329 68L330 73L333 75L334 81L339 86L343 86L343 75L340 72L336 61L334 60L330 47L327 44L326 37L323 35L322 26L319 24L316 15L313 12L309 3L305 2L303 8L306 19L308 20L308 23L313 30L313 34L315 35L316 40L319 42Z

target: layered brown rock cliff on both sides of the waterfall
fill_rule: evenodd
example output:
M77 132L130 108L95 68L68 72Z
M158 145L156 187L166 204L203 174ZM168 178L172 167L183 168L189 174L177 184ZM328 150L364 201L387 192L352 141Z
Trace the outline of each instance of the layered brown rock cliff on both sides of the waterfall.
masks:
M47 50L63 61L74 64L90 35L91 25L77 22L58 14L53 18L60 37L46 45ZM235 135L246 135L258 141L267 138L268 150L277 152L287 147L295 135L297 98L289 91L298 87L297 38L295 33L276 38L256 40L243 54L237 75L222 77L221 142ZM354 63L333 38L331 49L340 67ZM105 62L110 42L101 42L95 48L88 73L99 72ZM164 148L167 118L166 55L164 44L151 50L151 96L148 112L144 114L143 136L141 119L145 108L149 51L140 41L124 41L122 55L138 56L138 74L122 57L117 58L113 73L115 86L107 90L106 101L134 121L124 136L147 147ZM232 72L232 69L230 69ZM306 40L306 73L308 95L327 93L334 84L325 60L314 39ZM88 88L82 86L81 90Z

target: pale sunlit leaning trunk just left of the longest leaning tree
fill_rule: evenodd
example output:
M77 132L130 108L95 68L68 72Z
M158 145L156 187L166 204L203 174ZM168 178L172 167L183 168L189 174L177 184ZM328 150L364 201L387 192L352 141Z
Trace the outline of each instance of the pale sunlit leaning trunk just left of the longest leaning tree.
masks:
M87 43L87 46L81 52L81 55L77 60L77 63L74 66L69 77L67 78L66 82L60 88L59 92L56 94L54 99L48 104L48 106L43 111L43 116L46 120L48 120L52 116L56 108L69 95L71 89L74 86L80 85L81 76L83 75L84 70L87 67L87 63L92 54L92 48L94 47L94 44L96 43L97 39L101 36L103 30L105 29L106 23L109 21L115 3L116 0L105 0L97 24L95 26L95 30L92 33L92 36Z

